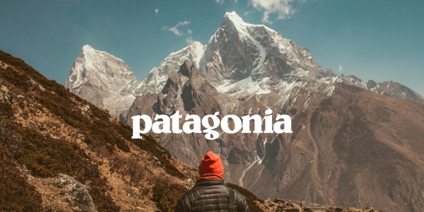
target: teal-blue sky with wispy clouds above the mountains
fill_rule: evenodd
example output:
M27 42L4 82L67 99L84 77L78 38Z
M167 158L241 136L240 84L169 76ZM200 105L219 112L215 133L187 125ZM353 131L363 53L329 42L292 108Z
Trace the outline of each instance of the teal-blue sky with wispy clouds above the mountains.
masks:
M398 81L424 95L424 1L0 1L0 49L64 83L83 45L141 81L170 52L206 44L226 11L311 50L336 73Z

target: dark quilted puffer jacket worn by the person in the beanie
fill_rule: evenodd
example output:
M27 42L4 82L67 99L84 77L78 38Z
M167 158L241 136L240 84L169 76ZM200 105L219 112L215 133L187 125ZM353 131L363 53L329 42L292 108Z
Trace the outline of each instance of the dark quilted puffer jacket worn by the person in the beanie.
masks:
M235 192L234 211L249 211L245 196ZM178 201L175 212L181 211L230 211L230 190L218 179L206 179L196 184Z

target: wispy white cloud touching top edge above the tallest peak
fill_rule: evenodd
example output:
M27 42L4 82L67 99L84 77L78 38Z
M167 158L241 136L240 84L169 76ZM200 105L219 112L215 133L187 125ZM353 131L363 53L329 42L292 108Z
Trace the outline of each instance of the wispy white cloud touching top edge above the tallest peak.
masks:
M258 11L264 12L262 16L263 22L272 23L272 21L269 20L269 15L271 13L277 14L277 20L290 18L295 13L296 10L292 5L293 1L295 0L249 0L249 3ZM304 2L305 0L300 1Z

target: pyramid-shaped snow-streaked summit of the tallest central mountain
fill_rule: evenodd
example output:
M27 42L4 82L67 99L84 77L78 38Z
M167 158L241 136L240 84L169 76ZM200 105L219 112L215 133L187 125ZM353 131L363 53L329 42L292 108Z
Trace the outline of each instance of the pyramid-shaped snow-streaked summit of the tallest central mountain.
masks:
M260 81L292 71L310 71L299 73L305 76L322 72L309 50L265 25L245 23L235 12L225 13L222 25L209 40L202 62L200 69L216 76L218 84L248 77Z

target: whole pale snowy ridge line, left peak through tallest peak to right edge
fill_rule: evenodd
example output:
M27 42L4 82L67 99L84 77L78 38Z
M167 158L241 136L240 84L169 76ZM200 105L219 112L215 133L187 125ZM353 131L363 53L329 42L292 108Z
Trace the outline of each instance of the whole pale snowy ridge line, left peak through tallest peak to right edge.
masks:
M84 54L85 50L88 54ZM245 23L235 12L225 13L222 25L208 45L194 42L171 53L141 83L136 81L131 68L122 59L86 45L73 64L65 86L118 117L128 110L137 95L159 93L169 73L177 72L184 60L204 71L223 93L269 93L269 90L284 91L293 86L305 86L307 82L309 90L321 90L323 95L330 95L332 85L343 82L394 98L424 101L421 95L399 83L363 81L322 69L308 49L299 47L265 25ZM276 86L276 81L283 83ZM279 95L287 96L288 93Z

